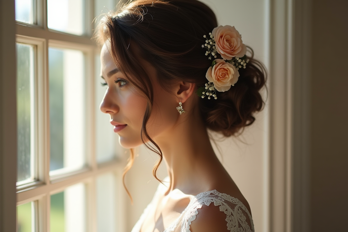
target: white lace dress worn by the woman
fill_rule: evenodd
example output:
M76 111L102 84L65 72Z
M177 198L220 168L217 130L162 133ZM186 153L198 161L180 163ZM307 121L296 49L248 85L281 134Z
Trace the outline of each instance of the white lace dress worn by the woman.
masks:
M166 190L163 184L158 186L152 201L144 209L143 214L140 216L131 232L140 232L145 217L148 215L151 208L156 207L159 195ZM220 211L226 214L226 228L230 232L255 232L253 219L243 203L237 198L231 197L225 193L220 193L216 190L192 196L189 205L182 211L181 215L163 232L190 232L191 222L196 219L198 209L203 205L209 206L211 203L214 203L214 206L219 207Z

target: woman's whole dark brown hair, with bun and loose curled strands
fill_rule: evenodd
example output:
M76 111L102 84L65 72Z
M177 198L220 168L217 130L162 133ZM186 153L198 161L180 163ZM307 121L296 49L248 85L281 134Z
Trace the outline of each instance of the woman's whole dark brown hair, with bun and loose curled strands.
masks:
M161 86L166 87L172 81L185 81L201 87L207 82L205 74L212 64L205 56L206 50L201 48L205 42L203 35L212 32L216 26L214 12L198 0L130 1L116 13L105 15L98 24L97 41L110 43L110 53L116 66L147 99L141 138L160 157L153 167L156 179L163 155L146 127L153 106L153 88L144 68L128 48L131 42L140 48L141 56L157 70ZM264 105L259 91L265 84L266 72L262 63L253 58L251 48L248 53L250 61L246 69L239 70L240 77L235 86L229 91L219 92L216 100L204 98L199 101L206 127L224 136L235 135L251 125L255 120L253 114ZM124 174L133 160L134 153L131 151Z

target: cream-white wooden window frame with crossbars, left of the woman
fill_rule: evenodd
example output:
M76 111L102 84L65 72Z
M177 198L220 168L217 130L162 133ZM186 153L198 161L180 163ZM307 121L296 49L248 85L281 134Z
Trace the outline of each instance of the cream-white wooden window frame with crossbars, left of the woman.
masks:
M35 202L35 215L32 215L36 228L35 231L50 231L50 195L58 193L66 189L66 187L77 183L86 184L86 228L87 231L97 231L96 222L96 178L99 175L112 173L117 179L117 199L115 201L116 208L116 231L124 231L125 229L125 207L124 198L126 197L122 190L121 174L125 166L125 159L115 158L112 161L98 164L95 154L95 91L94 91L94 74L95 74L95 56L100 53L92 41L92 27L89 23L93 20L94 14L94 0L85 0L85 34L82 36L72 35L64 32L50 30L47 27L47 2L46 0L36 0L36 7L34 9L34 23L35 25L26 24L22 22L13 22L15 30L10 30L10 27L3 21L4 18L15 18L14 0L1 1L0 12L2 13L1 29L4 30L1 35L8 33L15 36L11 41L21 42L29 45L34 45L34 99L35 99L35 162L37 170L35 176L37 181L17 186L14 189L17 176L17 118L6 117L1 119L1 169L4 171L1 175L0 184L0 230L1 231L15 231L16 223L16 207L31 201ZM12 22L11 22L12 23ZM11 24L10 23L10 24ZM5 26L4 26L5 25ZM4 37L7 38L7 37ZM11 36L8 36L11 38ZM8 75L8 79L1 80L1 91L6 94L1 101L1 115L8 116L16 115L16 51L15 44L6 47L6 42L1 40L1 54L8 53L9 61L1 59L1 67L3 69L2 77ZM92 125L88 127L86 134L86 167L74 171L73 173L65 173L59 176L49 176L49 84L48 84L48 47L54 46L59 48L70 48L81 50L85 55L85 84L86 84L86 123ZM4 56L2 56L4 57ZM10 63L10 64L7 64ZM5 73L7 72L7 74ZM10 73L10 74L9 74ZM6 85L10 86L7 88ZM8 90L7 90L8 89ZM4 105L7 101L8 104ZM7 124L10 123L10 124ZM6 126L7 125L7 126ZM12 125L9 127L8 125ZM7 134L9 131L14 133ZM116 152L116 151L115 151ZM117 151L119 154L124 154L123 151ZM8 154L12 154L9 156ZM118 157L119 158L119 157ZM10 168L7 168L10 167ZM12 178L8 178L11 175ZM14 192L16 192L14 197ZM6 196L12 194L11 198ZM9 201L7 201L9 200ZM15 201L14 201L15 200ZM13 203L15 202L15 205ZM11 205L12 203L12 205ZM9 209L6 213L5 209ZM15 224L14 224L15 222ZM11 228L11 229L8 229Z

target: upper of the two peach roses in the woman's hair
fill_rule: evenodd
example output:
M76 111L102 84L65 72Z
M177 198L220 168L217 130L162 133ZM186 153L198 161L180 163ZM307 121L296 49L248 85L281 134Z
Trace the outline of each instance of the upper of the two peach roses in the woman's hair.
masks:
M215 39L217 52L223 59L230 60L233 57L243 57L246 54L246 46L242 41L242 35L234 26L218 26L212 32Z

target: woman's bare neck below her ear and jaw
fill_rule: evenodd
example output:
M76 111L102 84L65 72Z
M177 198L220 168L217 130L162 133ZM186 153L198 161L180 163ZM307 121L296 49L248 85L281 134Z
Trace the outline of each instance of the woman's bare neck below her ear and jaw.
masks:
M222 167L199 112L180 115L176 125L156 137L155 142L163 153L171 179L168 191L203 191L208 186L201 180L209 178L216 167Z

